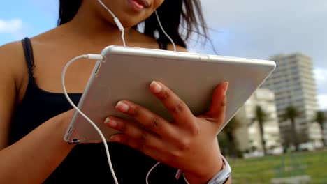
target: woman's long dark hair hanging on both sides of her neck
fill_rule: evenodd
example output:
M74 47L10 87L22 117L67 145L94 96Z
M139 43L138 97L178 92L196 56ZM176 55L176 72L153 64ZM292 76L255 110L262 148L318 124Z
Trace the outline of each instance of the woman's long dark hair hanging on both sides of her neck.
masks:
M82 0L59 0L58 25L65 24L75 17ZM187 47L186 41L191 33L208 38L205 20L203 18L201 3L199 0L165 0L157 9L161 24L166 33L177 45ZM152 38L156 37L162 43L170 43L170 40L163 34L153 13L144 22L144 33Z

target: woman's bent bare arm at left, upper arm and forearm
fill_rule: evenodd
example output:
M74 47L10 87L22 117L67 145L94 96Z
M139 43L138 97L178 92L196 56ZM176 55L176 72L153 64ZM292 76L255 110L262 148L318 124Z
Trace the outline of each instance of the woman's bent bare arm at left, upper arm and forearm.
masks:
M8 132L17 99L15 74L19 65L16 61L22 57L18 44L0 47L0 183L42 183L73 148L63 140L73 111L51 118L8 146ZM44 144L45 140L47 144Z

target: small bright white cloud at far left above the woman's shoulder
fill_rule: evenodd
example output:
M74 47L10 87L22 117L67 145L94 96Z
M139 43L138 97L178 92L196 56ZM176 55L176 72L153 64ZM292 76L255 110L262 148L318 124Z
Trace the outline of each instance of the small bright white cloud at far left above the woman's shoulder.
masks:
M0 33L8 33L16 38L22 37L23 23L21 19L1 20L0 19Z

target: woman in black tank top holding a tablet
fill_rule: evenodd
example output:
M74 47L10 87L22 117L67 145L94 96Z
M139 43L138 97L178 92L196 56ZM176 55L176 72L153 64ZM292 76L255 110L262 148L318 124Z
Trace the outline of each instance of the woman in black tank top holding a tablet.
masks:
M187 36L199 23L196 13L203 23L195 0L103 3L122 22L126 45L131 47L173 49L159 29L154 10L178 51L186 51L185 38L178 33L180 22L189 30ZM139 33L136 26L144 20L145 33ZM159 31L157 40L155 30ZM61 0L57 28L0 48L0 183L113 183L102 144L63 141L73 110L62 93L60 75L74 56L122 45L120 34L98 1ZM93 66L92 62L78 62L67 71L66 86L75 103ZM216 133L224 121L227 86L219 84L210 110L195 117L167 86L152 82L150 90L173 115L172 123L151 109L118 102L119 111L143 125L132 126L115 117L103 122L122 131L109 143L118 181L145 183L147 172L160 161L163 164L152 171L150 183L184 183L184 179L175 179L177 169L189 183L207 183L223 167Z

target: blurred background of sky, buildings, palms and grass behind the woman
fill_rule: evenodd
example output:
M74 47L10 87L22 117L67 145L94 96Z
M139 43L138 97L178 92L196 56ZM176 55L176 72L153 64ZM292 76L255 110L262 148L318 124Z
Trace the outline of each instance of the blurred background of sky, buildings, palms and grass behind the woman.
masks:
M219 137L233 183L327 183L327 1L201 0L190 52L271 59L275 72ZM3 1L0 45L57 26L57 0Z

